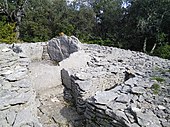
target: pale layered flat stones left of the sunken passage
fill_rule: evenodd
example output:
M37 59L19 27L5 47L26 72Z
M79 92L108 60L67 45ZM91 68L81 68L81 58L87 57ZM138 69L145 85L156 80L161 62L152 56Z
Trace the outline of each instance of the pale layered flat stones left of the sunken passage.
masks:
M0 127L41 127L35 91L28 73L30 59L0 45Z

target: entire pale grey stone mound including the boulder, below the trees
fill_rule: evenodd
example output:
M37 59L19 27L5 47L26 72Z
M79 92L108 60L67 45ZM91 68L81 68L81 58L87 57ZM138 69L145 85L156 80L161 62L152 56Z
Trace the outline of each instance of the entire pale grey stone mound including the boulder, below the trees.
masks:
M48 43L0 45L0 127L170 127L169 60Z

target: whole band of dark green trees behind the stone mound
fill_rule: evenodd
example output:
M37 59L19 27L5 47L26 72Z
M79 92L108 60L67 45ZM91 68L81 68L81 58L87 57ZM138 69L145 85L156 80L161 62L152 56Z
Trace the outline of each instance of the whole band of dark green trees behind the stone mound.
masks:
M47 41L64 32L86 43L169 58L170 1L0 0L0 27L0 41L11 35Z

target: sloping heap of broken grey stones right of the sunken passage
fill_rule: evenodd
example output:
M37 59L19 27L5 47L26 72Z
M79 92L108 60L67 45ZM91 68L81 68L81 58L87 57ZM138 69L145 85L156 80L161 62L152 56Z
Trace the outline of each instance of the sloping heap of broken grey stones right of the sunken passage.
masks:
M82 49L91 57L88 67L63 69L61 77L65 99L86 127L170 126L170 61L98 45Z

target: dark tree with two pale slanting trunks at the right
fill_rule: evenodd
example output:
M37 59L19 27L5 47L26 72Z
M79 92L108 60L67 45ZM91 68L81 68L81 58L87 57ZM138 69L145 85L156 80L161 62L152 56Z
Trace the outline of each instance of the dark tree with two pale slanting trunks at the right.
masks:
M169 31L165 31L163 22L169 20L169 6L169 1L131 1L124 24L127 48L153 53L156 46L167 42ZM166 25L169 26L169 23L166 22ZM168 36L160 39L162 35Z

